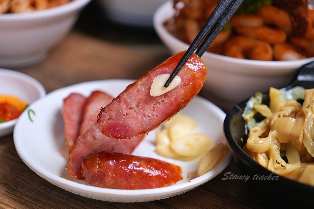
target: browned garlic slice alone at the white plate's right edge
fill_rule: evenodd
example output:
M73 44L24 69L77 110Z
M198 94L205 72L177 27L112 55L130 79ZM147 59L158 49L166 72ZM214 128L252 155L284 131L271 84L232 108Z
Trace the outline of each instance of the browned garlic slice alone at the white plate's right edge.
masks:
M220 143L208 150L198 162L197 174L199 176L207 173L210 169L214 168L214 165L219 160L224 144Z

